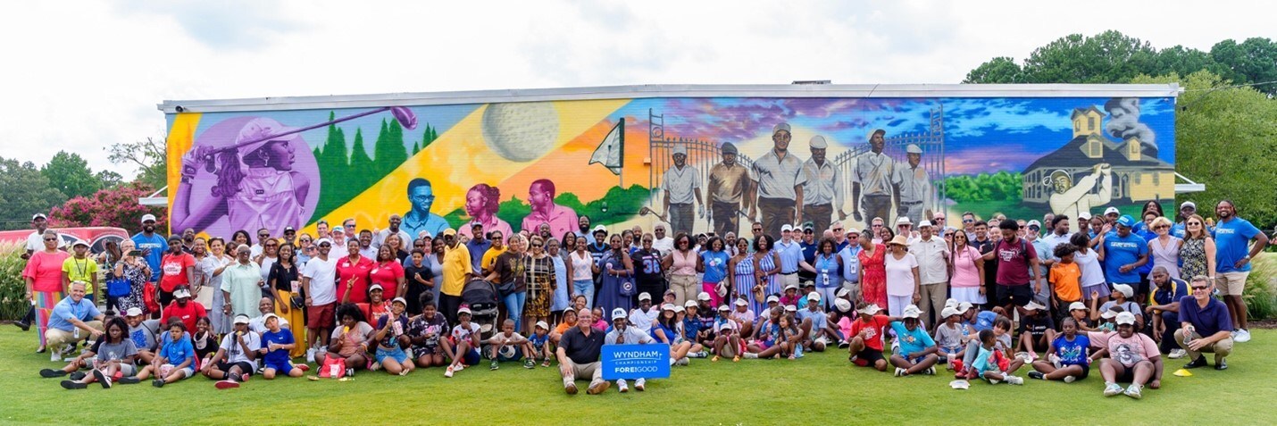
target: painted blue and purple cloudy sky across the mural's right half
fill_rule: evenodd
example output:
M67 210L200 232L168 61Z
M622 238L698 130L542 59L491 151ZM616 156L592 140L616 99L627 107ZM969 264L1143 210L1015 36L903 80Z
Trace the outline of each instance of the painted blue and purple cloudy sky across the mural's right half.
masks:
M614 116L630 116L637 119L635 125L646 126L647 110L651 108L654 114L664 115L668 136L737 144L766 139L773 125L785 121L794 128L796 147L803 147L811 135L821 134L834 147L831 153L836 153L836 147L865 144L873 129L886 130L888 136L926 131L932 111L939 111L942 106L945 166L949 175L965 175L1023 171L1034 159L1059 149L1073 138L1070 115L1074 108L1094 106L1105 111L1107 101L1108 98L669 98L637 99ZM1102 126L1108 121L1106 114ZM1158 157L1174 165L1174 99L1142 98L1139 122L1156 135ZM1108 138L1116 140L1111 135Z

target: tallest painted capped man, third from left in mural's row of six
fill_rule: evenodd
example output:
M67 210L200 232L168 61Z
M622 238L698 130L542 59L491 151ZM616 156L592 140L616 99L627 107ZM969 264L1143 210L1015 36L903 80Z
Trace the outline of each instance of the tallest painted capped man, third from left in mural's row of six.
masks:
M753 162L753 176L757 186L757 203L750 209L751 218L759 218L764 233L775 239L780 226L794 223L796 205L802 204L802 159L789 152L789 124L780 122L771 128L771 149Z

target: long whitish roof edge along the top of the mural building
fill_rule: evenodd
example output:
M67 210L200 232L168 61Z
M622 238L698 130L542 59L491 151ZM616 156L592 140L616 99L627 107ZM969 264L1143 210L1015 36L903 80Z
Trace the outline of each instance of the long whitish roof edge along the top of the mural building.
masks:
M644 84L540 89L291 96L240 99L163 101L165 114L275 110L326 110L383 106L580 101L655 97L1176 97L1168 84Z

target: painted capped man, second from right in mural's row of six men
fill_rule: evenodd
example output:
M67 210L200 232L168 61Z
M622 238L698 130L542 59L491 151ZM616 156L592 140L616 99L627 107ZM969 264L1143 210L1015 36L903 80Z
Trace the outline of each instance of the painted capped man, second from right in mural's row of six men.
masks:
M852 218L856 222L891 217L891 171L895 170L895 161L882 153L885 135L882 129L873 130L870 152L856 157L852 168Z

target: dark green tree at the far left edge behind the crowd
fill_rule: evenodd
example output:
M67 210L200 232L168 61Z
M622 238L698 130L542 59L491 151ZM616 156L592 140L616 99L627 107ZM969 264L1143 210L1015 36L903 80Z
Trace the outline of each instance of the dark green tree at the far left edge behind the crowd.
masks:
M0 228L26 228L32 214L47 214L66 198L34 163L0 157Z

